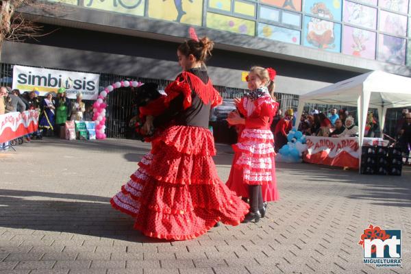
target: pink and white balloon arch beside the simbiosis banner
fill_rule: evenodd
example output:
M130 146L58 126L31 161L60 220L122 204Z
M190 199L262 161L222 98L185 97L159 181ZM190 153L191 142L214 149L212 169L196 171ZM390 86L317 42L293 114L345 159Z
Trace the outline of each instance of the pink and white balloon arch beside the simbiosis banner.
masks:
M121 81L115 82L107 87L105 87L97 97L97 101L92 104L92 121L96 123L96 138L97 139L105 139L105 108L107 107L107 103L104 103L105 97L115 90L116 88L138 88L142 85L142 82L137 81Z

